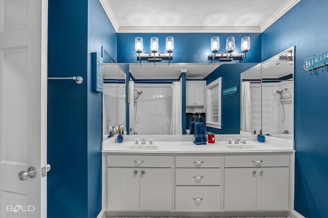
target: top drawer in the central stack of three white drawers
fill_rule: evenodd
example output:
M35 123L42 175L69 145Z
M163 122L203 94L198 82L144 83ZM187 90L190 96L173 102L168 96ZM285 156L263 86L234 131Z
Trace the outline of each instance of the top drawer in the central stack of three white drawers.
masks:
M220 156L177 156L175 167L184 168L219 168Z

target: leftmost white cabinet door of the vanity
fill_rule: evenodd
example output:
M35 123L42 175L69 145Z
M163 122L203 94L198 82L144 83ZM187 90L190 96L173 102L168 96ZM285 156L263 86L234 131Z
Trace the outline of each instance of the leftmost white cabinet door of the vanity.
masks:
M139 210L139 169L108 168L108 210Z

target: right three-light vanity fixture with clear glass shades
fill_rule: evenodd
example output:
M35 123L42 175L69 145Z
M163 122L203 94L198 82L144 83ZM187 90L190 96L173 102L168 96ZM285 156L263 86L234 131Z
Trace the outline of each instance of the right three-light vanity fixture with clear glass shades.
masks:
M215 60L215 58L219 58L219 60L231 61L234 58L241 58L242 60L245 60L246 53L251 49L251 38L249 36L246 36L241 39L240 50L244 54L233 54L233 51L235 50L236 47L235 37L233 36L230 36L226 39L226 50L228 53L217 54L220 48L219 44L220 42L218 36L214 36L211 38L211 51L214 54L210 54L209 59L212 58L213 60Z

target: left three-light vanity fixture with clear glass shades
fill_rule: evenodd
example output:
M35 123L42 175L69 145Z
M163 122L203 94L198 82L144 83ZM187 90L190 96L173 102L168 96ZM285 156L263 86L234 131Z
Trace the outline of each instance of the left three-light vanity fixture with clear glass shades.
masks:
M158 38L157 37L151 37L150 39L150 51L148 54L141 54L142 50L144 49L144 42L141 37L136 37L135 38L135 44L134 44L134 49L138 53L138 60L140 61L142 59L147 59L148 61L161 61L163 59L168 59L169 60L169 65L170 65L170 60L173 58L172 52L174 50L174 38L173 36L168 36L166 37L166 45L165 45L166 51L169 54L162 54L158 52Z

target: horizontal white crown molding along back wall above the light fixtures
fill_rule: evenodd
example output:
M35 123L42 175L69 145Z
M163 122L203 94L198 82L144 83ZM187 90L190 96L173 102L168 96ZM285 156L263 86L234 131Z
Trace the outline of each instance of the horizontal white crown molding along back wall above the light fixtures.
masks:
M261 33L261 27L119 27L117 33Z

